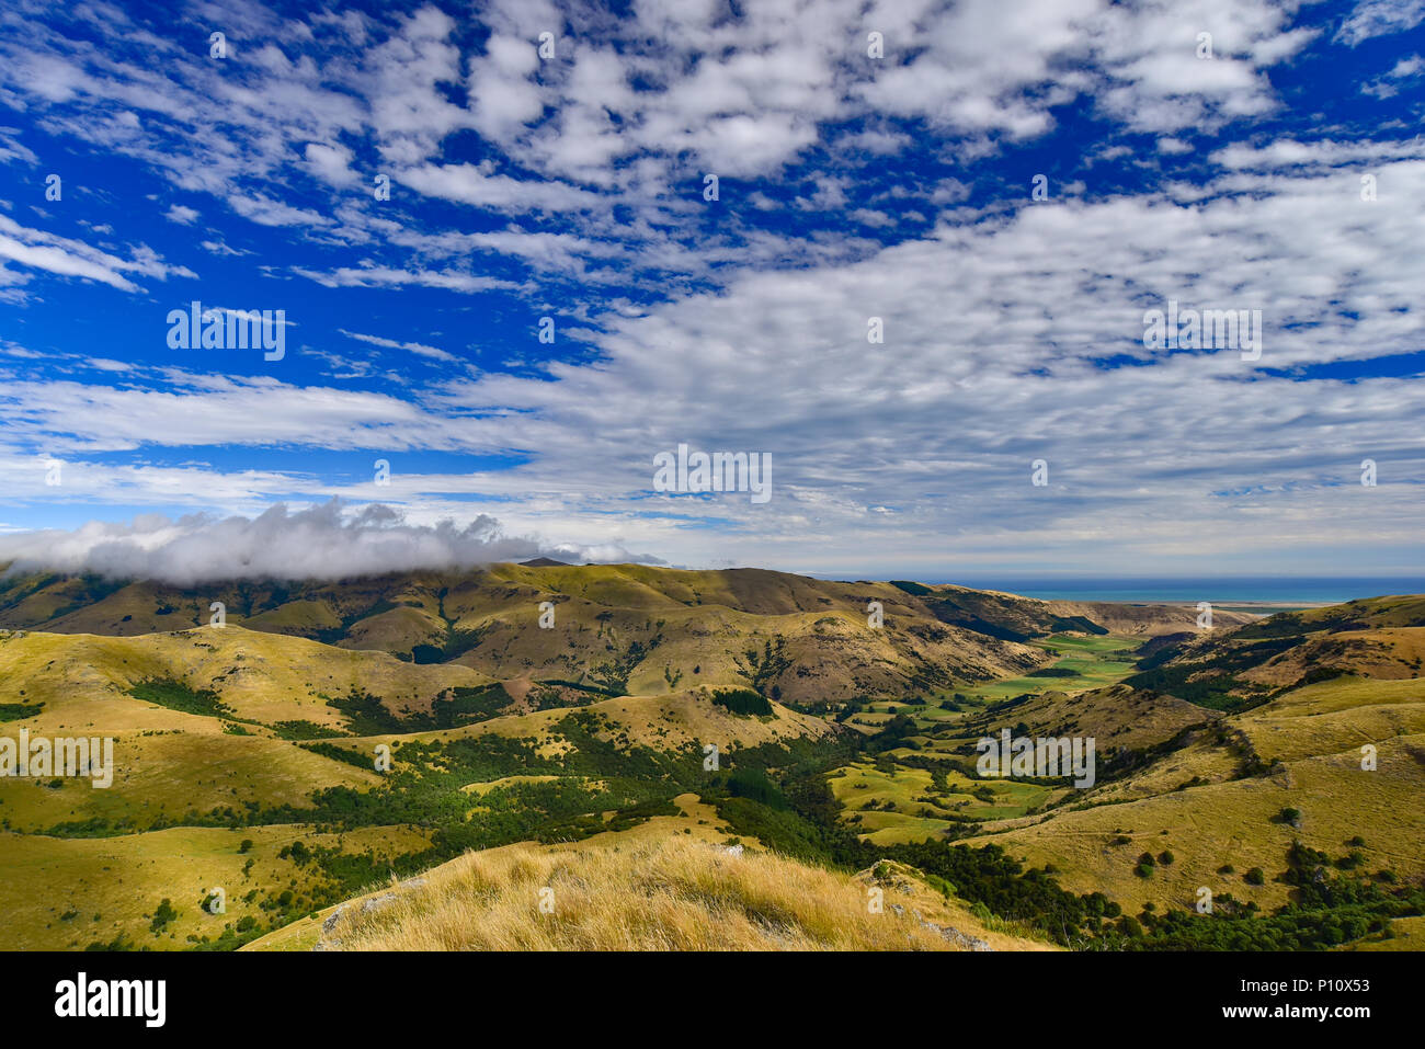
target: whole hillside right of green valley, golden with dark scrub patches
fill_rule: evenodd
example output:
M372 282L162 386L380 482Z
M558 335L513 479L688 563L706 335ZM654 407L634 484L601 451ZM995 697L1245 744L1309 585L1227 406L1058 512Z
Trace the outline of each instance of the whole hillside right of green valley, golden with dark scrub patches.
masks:
M1425 681L1402 674L1414 670L1422 611L1418 599L1364 600L1188 644L1143 646L1149 654L1137 668L1131 656L1090 673L1060 660L1049 670L1063 666L1063 677L1005 680L935 706L872 704L852 724L895 738L874 760L832 774L838 818L872 845L999 845L1072 892L1104 894L1164 942L1181 932L1161 916L1196 914L1203 889L1237 916L1320 904L1304 895L1308 878L1337 887L1338 901L1354 899L1357 884L1368 896L1418 889ZM1354 644L1361 636L1371 644ZM1257 647L1263 639L1273 641L1270 653ZM1112 636L1036 643L1063 653L1131 651ZM1317 663L1324 651L1331 658ZM1161 666L1184 673L1143 670ZM1102 686L1096 670L1124 680ZM1227 688L1238 690L1241 704L1200 687L1217 673L1231 676ZM1133 684L1146 680L1166 690ZM975 744L1006 728L1016 738L1092 737L1096 784L982 780ZM1375 748L1375 767L1362 767L1362 747Z

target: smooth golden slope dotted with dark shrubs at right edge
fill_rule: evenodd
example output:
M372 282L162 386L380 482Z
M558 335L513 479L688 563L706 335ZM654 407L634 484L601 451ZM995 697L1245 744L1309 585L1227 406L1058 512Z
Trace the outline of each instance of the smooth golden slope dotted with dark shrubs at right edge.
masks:
M1318 640L1284 636L1300 637L1300 648ZM1235 654L1240 644L1234 636L1224 647ZM1290 663L1300 648L1271 658ZM1194 650L1198 664L1204 651ZM1331 677L1226 717L1198 707L1196 724L1190 704L1120 686L1124 701L1146 710L1120 737L1139 760L1120 763L1117 778L1110 764L1109 781L1059 811L986 824L988 834L972 841L1047 864L1067 888L1106 892L1133 912L1191 908L1203 888L1263 909L1282 906L1300 895L1297 844L1324 854L1332 875L1418 885L1425 877L1425 681L1394 677L1394 663L1357 670L1388 677ZM1069 700L1037 720L1074 710ZM1030 704L1015 714L1022 711L1035 713ZM1159 728L1134 738L1150 723ZM1063 727L1074 723L1049 725ZM1374 767L1362 747L1374 748ZM1171 862L1159 859L1164 852ZM1154 858L1147 867L1144 855Z

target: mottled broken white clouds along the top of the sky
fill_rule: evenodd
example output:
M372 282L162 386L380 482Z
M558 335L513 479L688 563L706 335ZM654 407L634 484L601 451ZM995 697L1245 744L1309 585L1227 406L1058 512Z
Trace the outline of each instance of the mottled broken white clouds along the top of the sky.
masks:
M735 14L715 3L637 3L616 14L500 0L477 13L486 41L462 51L465 34L433 6L389 20L306 21L241 6L224 17L241 27L242 47L219 64L105 9L84 31L53 21L33 26L23 46L0 41L0 98L50 134L135 157L178 188L316 242L413 232L403 210L420 201L399 188L389 217L326 208L292 188L315 177L349 204L368 175L389 174L419 197L526 221L559 217L581 242L553 264L564 274L603 279L589 245L614 241L636 265L708 279L724 245L693 251L677 232L695 207L678 187L705 172L742 180L735 192L764 207L757 181L818 145L855 164L912 147L916 135L888 117L923 124L945 138L948 158L966 161L1052 131L1054 105L1089 95L1133 130L1213 131L1277 104L1265 71L1311 36L1292 27L1294 14L1294 3L1267 0L1032 0L1013 17L1000 0L807 0ZM866 54L871 30L884 34L885 58ZM1194 56L1204 30L1213 61ZM93 46L91 31L107 47ZM556 37L551 58L536 53L543 31ZM125 51L140 47L142 61ZM472 130L486 160L447 155L452 137ZM358 143L379 161L359 162ZM747 244L735 227L727 237L752 265L805 251L765 235ZM506 244L519 265L550 265L514 238ZM419 258L386 258L382 269L432 272Z

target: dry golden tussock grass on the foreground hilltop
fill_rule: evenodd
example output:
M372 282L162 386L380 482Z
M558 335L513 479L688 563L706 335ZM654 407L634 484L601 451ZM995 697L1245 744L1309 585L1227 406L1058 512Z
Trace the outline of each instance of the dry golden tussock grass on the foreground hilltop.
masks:
M323 935L345 951L950 951L912 914L923 901L772 854L731 855L695 841L630 848L472 852L346 905ZM553 891L553 914L540 891ZM896 914L892 904L899 902ZM943 921L943 919L942 919Z

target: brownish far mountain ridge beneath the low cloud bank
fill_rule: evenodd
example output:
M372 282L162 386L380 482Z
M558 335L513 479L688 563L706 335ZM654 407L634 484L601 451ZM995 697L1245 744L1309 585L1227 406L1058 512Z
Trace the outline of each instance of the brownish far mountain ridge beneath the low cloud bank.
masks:
M1025 673L1053 633L1191 630L1190 609L1042 601L950 584L829 582L551 559L452 573L174 587L31 573L0 580L0 627L137 636L205 626L450 663L607 694L755 684L818 703ZM871 626L879 609L881 626ZM557 629L537 629L550 621ZM1251 617L1221 613L1240 626Z

